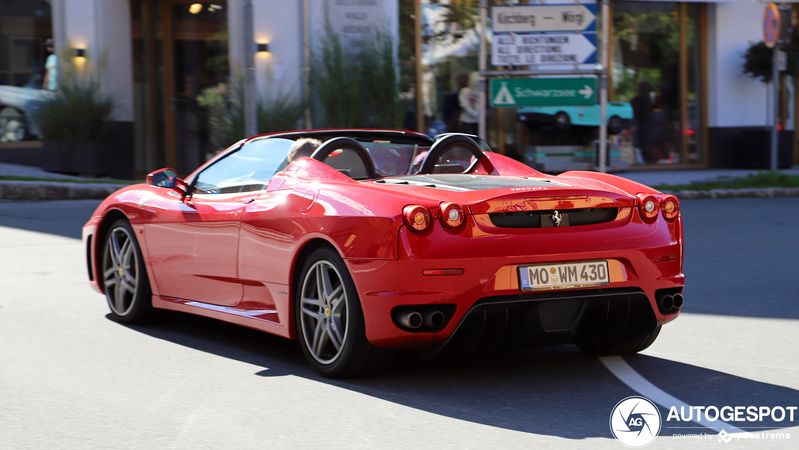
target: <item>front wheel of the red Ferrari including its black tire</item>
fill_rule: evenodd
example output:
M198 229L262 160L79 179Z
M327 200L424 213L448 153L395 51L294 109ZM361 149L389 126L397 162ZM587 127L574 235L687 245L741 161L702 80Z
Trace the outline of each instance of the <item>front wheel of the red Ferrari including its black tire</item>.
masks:
M97 282L103 284L111 316L124 324L141 324L153 317L145 260L130 222L118 219L105 233Z

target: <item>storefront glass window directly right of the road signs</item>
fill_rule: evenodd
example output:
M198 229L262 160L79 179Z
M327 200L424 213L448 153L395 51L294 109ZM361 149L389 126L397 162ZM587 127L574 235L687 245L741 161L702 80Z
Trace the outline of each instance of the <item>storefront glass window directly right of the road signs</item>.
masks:
M701 161L698 5L613 4L613 100L633 107L638 164Z

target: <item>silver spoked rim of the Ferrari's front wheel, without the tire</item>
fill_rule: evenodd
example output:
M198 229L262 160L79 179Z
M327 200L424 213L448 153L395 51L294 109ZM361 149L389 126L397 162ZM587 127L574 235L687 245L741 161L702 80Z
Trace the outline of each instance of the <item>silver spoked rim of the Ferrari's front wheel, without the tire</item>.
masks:
M113 313L129 313L136 299L137 273L133 237L124 226L116 226L109 232L102 259L105 298Z

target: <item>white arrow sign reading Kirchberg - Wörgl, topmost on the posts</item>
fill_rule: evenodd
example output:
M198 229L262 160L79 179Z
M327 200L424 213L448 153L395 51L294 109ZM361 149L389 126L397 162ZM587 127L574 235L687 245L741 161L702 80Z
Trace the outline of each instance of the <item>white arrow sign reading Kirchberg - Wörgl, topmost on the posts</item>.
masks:
M596 3L491 6L494 33L596 31Z

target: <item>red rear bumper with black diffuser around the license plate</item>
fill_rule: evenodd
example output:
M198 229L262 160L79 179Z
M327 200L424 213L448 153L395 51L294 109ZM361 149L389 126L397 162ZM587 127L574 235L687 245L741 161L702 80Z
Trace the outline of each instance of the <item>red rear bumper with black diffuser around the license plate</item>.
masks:
M367 338L372 344L431 352L452 346L455 352L467 352L500 343L535 346L598 342L651 331L672 321L679 312L662 314L654 293L684 285L680 258L652 261L654 256L670 253L680 253L678 245L534 257L347 262L360 293ZM610 265L610 284L602 289L519 290L519 265L599 259L608 260ZM424 269L463 269L463 275L423 276ZM455 305L455 313L437 333L407 332L392 321L396 306L450 304ZM455 330L458 336L453 337ZM493 334L493 340L484 342L480 330L488 330L485 338ZM470 343L455 343L462 339Z

